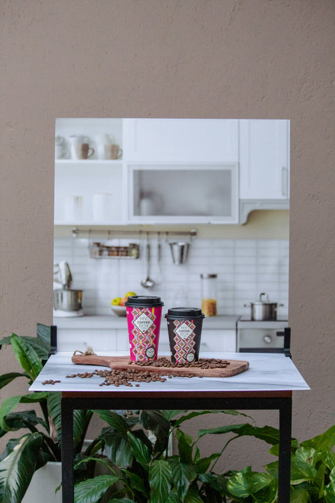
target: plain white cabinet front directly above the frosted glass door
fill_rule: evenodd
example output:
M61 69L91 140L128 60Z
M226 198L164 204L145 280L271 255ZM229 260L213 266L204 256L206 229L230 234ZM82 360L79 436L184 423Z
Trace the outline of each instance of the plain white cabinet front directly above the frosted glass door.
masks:
M235 119L124 119L128 162L232 162L239 158Z

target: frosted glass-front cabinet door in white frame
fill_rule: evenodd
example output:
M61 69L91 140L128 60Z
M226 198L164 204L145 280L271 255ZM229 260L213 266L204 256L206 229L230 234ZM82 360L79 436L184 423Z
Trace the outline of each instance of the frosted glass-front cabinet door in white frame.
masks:
M128 164L131 223L237 224L238 164Z

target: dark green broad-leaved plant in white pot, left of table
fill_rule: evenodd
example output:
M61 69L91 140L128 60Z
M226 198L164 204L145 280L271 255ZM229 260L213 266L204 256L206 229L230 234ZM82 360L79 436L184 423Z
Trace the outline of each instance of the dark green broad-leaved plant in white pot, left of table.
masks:
M12 334L0 344L10 344L19 361L22 372L10 372L0 376L0 389L14 379L24 379L31 384L42 370L50 350L50 327L38 323L37 337L19 337ZM0 348L1 348L0 345ZM34 409L16 411L18 404L38 404L41 417ZM82 446L92 411L75 411L74 442L75 456L84 454ZM5 398L0 406L0 437L24 430L24 435L9 439L0 456L0 501L20 503L27 491L34 472L48 461L61 461L61 393L28 393ZM89 446L88 451L91 451ZM94 469L86 465L86 471L77 472L77 477L89 476Z

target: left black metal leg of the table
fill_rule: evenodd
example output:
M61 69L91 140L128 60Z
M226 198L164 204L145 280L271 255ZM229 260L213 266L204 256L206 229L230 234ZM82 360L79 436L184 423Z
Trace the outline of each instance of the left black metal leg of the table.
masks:
M64 503L74 503L73 495L73 407L61 399L61 490Z

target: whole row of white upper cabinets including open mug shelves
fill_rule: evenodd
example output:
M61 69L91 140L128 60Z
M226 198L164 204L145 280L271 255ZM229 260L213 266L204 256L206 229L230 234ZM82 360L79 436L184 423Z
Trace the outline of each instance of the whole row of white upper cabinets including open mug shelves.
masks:
M289 204L290 122L57 119L57 225L242 224Z

